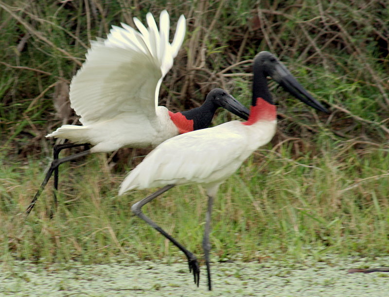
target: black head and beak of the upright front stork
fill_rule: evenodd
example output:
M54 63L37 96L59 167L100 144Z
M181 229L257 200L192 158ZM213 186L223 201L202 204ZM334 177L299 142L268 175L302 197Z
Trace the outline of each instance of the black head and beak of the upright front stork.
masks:
M330 113L325 107L323 107L310 93L308 93L296 78L289 72L289 70L281 63L276 56L269 52L260 52L254 58L254 76L257 72L258 76L265 77L271 76L276 82L278 82L286 92L291 93L296 98L300 99L305 104L312 106L313 108ZM267 84L267 83L266 83ZM263 88L261 84L260 87ZM255 88L253 88L255 90ZM257 90L258 93L261 90ZM253 94L254 95L254 94Z

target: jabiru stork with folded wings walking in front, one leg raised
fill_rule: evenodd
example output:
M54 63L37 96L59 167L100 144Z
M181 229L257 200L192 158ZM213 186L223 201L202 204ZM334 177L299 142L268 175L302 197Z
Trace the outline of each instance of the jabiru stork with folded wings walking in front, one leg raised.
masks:
M276 106L267 86L266 76L274 78L285 91L302 102L329 112L310 95L271 53L257 54L253 62L253 89L247 122L231 121L212 128L178 135L161 143L135 167L120 186L119 195L132 189L162 187L132 205L131 210L163 236L173 242L187 257L189 270L199 284L199 265L193 253L167 234L142 212L141 208L173 186L201 184L208 195L208 207L202 246L207 265L208 289L212 289L209 234L213 199L219 186L234 173L248 156L267 144L276 131Z

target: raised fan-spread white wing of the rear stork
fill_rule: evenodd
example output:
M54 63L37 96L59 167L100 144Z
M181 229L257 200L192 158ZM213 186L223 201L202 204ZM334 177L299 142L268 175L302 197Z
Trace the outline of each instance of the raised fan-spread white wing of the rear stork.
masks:
M159 17L159 30L151 15L148 28L134 18L139 31L123 24L112 26L106 39L91 42L86 61L70 86L71 107L86 126L110 120L123 112L156 117L159 87L173 65L185 36L185 18L177 22L169 43L169 15Z

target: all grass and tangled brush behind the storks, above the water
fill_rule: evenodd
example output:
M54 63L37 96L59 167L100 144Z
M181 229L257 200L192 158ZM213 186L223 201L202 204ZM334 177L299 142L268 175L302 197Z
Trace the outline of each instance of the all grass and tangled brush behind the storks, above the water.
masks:
M131 205L152 190L117 196L125 173L149 150L124 148L61 166L53 219L51 183L30 216L22 214L52 156L53 140L44 135L76 122L67 87L88 40L105 37L120 21L132 24L133 16L144 19L148 11L157 18L164 8L172 26L180 14L187 17L188 33L164 80L161 105L193 108L216 86L248 105L251 58L268 50L333 111L319 114L273 88L278 132L221 187L212 216L212 258L388 253L386 1L108 2L31 0L10 6L0 0L2 261L182 257L131 214ZM214 124L230 119L219 111ZM145 212L200 257L205 202L201 187L179 186Z

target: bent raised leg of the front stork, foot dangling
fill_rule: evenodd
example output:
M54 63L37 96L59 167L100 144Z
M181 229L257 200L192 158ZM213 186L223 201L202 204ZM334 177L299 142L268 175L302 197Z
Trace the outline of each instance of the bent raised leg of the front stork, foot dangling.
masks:
M189 264L189 271L193 271L193 277L195 278L195 284L199 283L200 279L200 268L198 266L197 259L194 254L192 254L190 251L188 251L185 247L183 247L180 243L178 243L172 236L170 236L168 233L166 233L159 225L154 223L149 217L144 215L142 213L141 208L144 204L149 203L153 199L157 198L160 194L163 192L166 192L167 190L171 189L175 185L167 185L163 188L160 188L157 192L154 192L150 196L147 196L146 198L142 199L141 201L137 202L136 204L132 205L131 210L134 214L136 214L138 217L140 217L143 221L148 223L150 226L152 226L154 229L156 229L159 233L161 233L164 237L166 237L168 240L172 241L174 245L176 245L188 258L188 264Z

